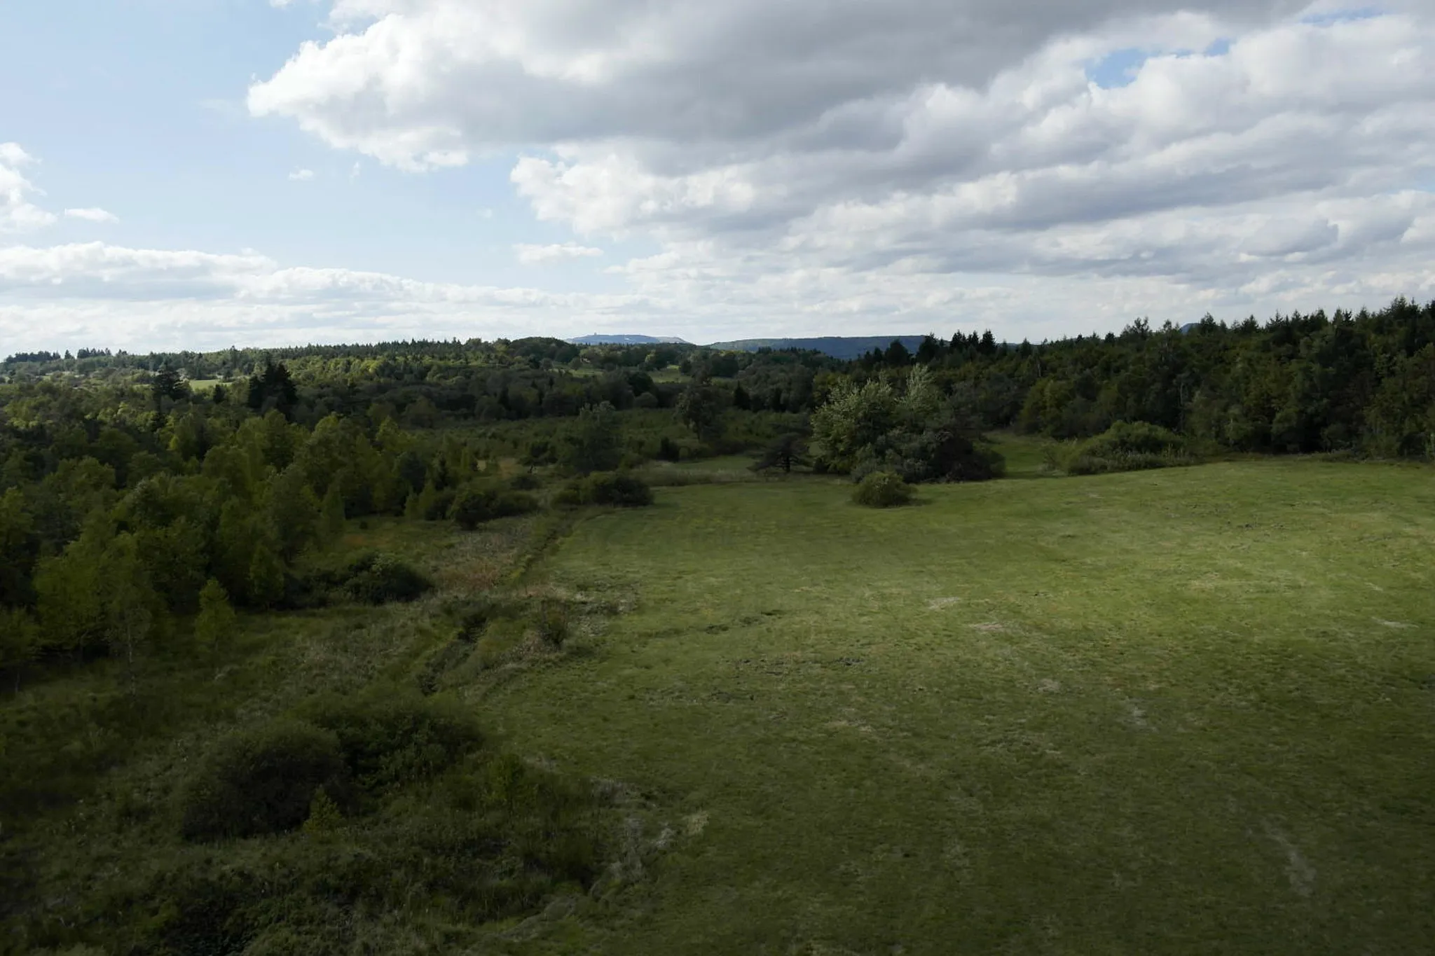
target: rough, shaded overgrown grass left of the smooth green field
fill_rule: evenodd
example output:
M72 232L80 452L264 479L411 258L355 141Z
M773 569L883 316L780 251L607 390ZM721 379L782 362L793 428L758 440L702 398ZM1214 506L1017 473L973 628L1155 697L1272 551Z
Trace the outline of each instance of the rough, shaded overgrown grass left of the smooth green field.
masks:
M560 662L565 649L535 646L517 618L504 634L462 622L475 596L507 593L573 520L544 515L478 533L354 523L343 550L402 555L439 589L406 605L248 616L214 656L172 645L144 658L133 684L122 666L90 662L0 699L0 952L451 952L514 932L555 899L570 910L587 900L613 853L643 851L611 840L627 791L524 761L488 732L468 692ZM433 722L445 712L472 714L482 737L453 742ZM296 720L321 730L265 737ZM342 813L330 803L303 831L245 824L258 836L228 838L227 814L273 785L287 788L276 800L310 797L290 793L287 771L245 795L235 768L250 757L215 775L217 744L237 732L280 745L320 734L321 744L330 731L352 764L324 765ZM195 804L205 780L220 783ZM294 823L288 803L276 804L280 828Z

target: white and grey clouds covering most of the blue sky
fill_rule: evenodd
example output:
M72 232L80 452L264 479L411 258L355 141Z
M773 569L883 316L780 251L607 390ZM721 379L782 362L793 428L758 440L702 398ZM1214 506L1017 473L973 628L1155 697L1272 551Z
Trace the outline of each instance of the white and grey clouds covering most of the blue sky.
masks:
M1435 295L1429 3L339 0L327 16L331 39L253 83L254 118L413 175L517 153L511 188L574 241L515 258L614 262L631 292L27 236L0 247L0 328L1019 340ZM1114 53L1139 64L1095 83ZM0 231L55 221L37 169L0 146ZM634 238L660 251L597 258Z

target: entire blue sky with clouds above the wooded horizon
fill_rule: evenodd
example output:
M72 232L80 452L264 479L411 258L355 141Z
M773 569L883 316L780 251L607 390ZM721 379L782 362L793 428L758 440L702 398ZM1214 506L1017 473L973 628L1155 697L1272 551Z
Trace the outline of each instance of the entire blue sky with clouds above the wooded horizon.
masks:
M0 355L1435 298L1435 0L11 0Z

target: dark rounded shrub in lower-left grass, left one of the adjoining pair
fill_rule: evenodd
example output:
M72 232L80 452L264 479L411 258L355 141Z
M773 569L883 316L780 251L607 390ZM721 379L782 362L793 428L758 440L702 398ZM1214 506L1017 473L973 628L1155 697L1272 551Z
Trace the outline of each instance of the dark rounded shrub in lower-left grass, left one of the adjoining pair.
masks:
M314 793L344 793L339 737L298 721L276 721L221 740L185 790L181 833L188 840L251 837L293 830Z

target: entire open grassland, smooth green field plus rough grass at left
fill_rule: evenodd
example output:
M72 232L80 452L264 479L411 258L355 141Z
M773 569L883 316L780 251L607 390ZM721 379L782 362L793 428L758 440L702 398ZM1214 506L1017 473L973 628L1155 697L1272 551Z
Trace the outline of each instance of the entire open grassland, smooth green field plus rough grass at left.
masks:
M0 890L30 936L4 952L1429 952L1435 473L1048 477L1039 443L1003 451L1009 480L890 510L729 457L647 466L646 509L350 522L340 552L403 555L438 591L247 615L138 682L113 661L7 691ZM564 602L563 648L501 621L465 644L484 593ZM217 735L416 682L474 714L482 754L323 837L179 838ZM468 873L472 821L530 826L512 797L492 816L498 754L597 794L551 818L601 830L604 869L545 864L535 903L481 924L430 870ZM324 871L363 861L382 903L330 896ZM185 873L298 876L241 939L177 935L184 907L148 894L189 899ZM300 917L346 929L274 935Z

